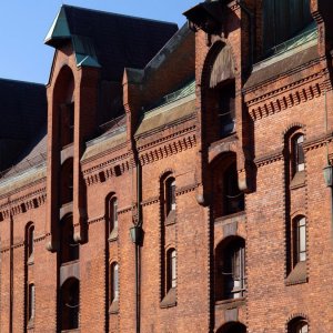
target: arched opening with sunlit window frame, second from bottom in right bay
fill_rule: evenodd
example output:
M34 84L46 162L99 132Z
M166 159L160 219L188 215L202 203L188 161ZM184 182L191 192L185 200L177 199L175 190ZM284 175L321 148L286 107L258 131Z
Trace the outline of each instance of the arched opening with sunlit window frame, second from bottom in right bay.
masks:
M245 282L245 241L228 238L215 250L215 300L243 297Z

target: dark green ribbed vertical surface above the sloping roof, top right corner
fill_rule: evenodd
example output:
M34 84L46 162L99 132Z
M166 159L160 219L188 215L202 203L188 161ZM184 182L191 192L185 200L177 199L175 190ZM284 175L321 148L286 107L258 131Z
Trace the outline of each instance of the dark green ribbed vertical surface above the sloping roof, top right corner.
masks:
M264 50L301 33L312 21L310 0L264 0L263 1Z

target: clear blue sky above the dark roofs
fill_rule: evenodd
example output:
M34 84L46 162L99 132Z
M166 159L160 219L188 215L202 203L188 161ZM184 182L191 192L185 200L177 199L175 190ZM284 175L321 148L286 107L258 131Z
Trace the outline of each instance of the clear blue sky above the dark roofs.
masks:
M47 83L53 49L44 46L62 3L185 23L182 12L199 0L0 0L0 78Z

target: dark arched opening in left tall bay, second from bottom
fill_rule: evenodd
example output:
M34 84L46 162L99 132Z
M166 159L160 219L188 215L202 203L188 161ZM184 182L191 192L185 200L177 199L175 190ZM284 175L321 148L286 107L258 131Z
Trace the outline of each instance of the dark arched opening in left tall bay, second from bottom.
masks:
M71 214L64 216L61 226L61 251L60 262L67 263L79 259L79 244L74 242L73 218Z

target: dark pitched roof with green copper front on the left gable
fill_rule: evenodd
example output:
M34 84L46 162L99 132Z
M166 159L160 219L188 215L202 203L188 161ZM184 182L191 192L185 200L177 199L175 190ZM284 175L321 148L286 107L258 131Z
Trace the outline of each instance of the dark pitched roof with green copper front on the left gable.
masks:
M104 79L121 81L125 67L144 68L176 31L174 23L64 4L46 43L71 40L77 65L101 67Z

